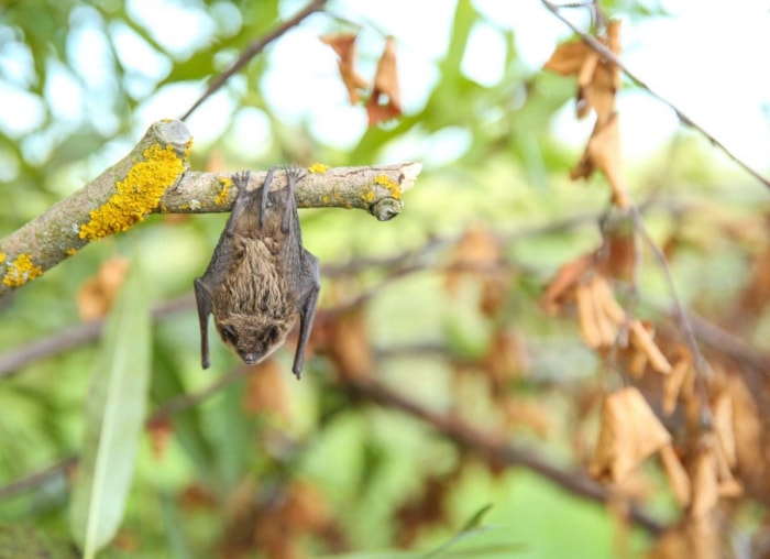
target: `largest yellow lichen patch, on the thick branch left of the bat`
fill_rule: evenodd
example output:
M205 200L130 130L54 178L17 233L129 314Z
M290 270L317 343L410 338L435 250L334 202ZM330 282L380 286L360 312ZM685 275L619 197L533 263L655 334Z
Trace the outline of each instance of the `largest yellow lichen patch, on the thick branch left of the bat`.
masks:
M101 239L142 221L185 171L184 158L172 145L153 144L142 155L144 160L116 184L116 194L91 210L90 221L80 226L80 239Z

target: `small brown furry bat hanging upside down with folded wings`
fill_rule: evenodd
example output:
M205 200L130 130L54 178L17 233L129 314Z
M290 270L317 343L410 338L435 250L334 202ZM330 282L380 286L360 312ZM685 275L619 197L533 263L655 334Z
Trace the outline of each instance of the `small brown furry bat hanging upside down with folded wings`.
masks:
M299 315L292 371L299 379L318 302L318 259L302 246L295 187L302 178L287 168L288 186L271 193L275 169L261 188L248 190L250 173L233 175L238 198L206 273L195 281L201 364L208 369L209 315L222 341L250 365L278 348Z

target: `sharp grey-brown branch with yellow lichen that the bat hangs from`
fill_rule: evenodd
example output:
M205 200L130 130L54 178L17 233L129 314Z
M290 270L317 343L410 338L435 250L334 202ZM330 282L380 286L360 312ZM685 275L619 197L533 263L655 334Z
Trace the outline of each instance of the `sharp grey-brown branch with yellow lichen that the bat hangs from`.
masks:
M90 241L125 231L150 213L229 211L237 196L230 174L188 172L191 143L179 120L152 124L125 157L0 240L0 297ZM402 193L420 171L419 163L338 168L316 164L297 185L297 204L364 209L384 221L400 212ZM261 185L265 174L253 172L250 187ZM273 189L286 186L284 175L276 174Z

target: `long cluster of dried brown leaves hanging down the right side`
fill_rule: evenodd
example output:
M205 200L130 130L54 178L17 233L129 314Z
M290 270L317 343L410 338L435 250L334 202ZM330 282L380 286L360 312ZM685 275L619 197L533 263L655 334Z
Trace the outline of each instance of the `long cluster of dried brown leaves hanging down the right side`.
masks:
M618 53L619 24L609 22L598 40ZM740 507L736 504L747 492L766 498L760 497L765 490L757 493L756 472L770 471L770 462L761 457L761 449L767 448L761 435L767 419L758 408L759 395L749 388L759 372L726 355L718 344L702 353L701 341L688 331L691 326L681 317L672 328L668 320L654 324L635 316L634 268L641 265L639 245L651 241L642 231L644 221L632 219L638 210L623 178L615 111L618 68L583 41L559 46L546 68L574 76L578 117L591 112L596 119L572 178L602 172L614 205L626 210L632 226L627 235L605 232L596 251L563 264L540 302L550 315L574 316L585 346L626 384L602 391L600 432L587 457L588 471L617 494L638 498L646 491L645 484L639 489L639 480L651 468L645 464L657 457L682 515L658 539L650 557L723 557L721 542L729 529L725 518L737 519ZM675 259L674 245L672 241L666 250L651 250L670 262ZM728 321L735 324L736 316L758 316L768 300L766 271L760 254L741 296L744 303ZM616 293L624 285L626 298L622 303ZM749 310L754 305L759 308Z

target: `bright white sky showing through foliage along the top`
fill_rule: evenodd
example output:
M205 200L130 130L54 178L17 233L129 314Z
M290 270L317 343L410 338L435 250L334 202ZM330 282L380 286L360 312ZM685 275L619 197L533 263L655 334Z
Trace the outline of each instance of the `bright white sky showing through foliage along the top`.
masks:
M770 53L770 0L661 0L669 13L666 18L624 21L623 54L626 65L660 95L724 142L736 155L760 171L770 169L770 77L767 53ZM289 17L305 0L282 4ZM416 2L389 0L331 0L337 14L362 25L360 36L360 72L372 75L382 50L384 34L394 35L398 43L399 78L405 112L419 110L437 79L436 63L447 50L453 0ZM184 2L158 0L129 1L129 9L139 20L156 32L158 41L173 51L184 52L190 44L205 42L215 26L208 18L194 15ZM476 9L492 24L473 31L463 68L469 77L483 85L494 85L502 76L505 44L498 30L514 30L521 62L537 73L552 53L554 45L571 35L571 31L548 12L539 0L476 0ZM238 11L226 2L218 4L213 19L231 29L240 24ZM568 10L571 19L585 25L585 10ZM88 14L84 11L81 37L74 45L75 56L87 81L98 90L103 72L99 34L89 32ZM176 24L169 26L168 22ZM270 69L265 79L265 96L274 113L286 122L308 122L323 142L340 149L355 145L366 127L365 113L346 102L346 94L337 77L337 62L330 48L319 48L318 36L328 33L334 22L326 15L314 15L273 44ZM174 30L184 32L174 33ZM168 62L148 52L128 30L116 30L122 62L138 74L160 79L168 72ZM0 37L1 41L2 37ZM18 75L24 74L24 56L0 42L0 64ZM66 76L55 81L59 102L56 111L63 119L82 118L86 107L98 110L98 99L86 99ZM235 87L248 87L235 79ZM146 83L138 75L130 84L141 92ZM201 92L202 85L168 87L143 103L136 113L136 134L160 118L178 116ZM34 123L34 103L19 99L12 87L0 83L0 127L24 132ZM97 103L96 106L94 103ZM209 99L188 124L204 144L219 135L232 117L233 108L226 95ZM671 109L649 95L627 88L618 97L622 138L626 157L644 157L664 144L679 124ZM110 128L109 116L100 125ZM556 119L559 135L566 143L583 145L591 130L590 122L578 122L571 107ZM238 146L266 145L267 123L264 114L252 110L239 114ZM396 146L389 157L397 160L430 160L436 153L444 157L462 151L468 138L449 134L442 140L444 150L437 151L416 144ZM253 147L252 147L253 150ZM258 156L258 149L251 152ZM431 163L431 162L428 162ZM433 161L440 164L441 161Z

